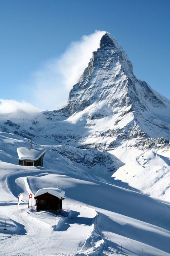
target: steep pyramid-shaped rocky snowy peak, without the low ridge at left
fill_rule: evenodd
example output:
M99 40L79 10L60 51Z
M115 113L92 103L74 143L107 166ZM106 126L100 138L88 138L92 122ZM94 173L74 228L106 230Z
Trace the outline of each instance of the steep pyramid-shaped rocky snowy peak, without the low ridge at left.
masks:
M140 148L169 143L170 101L134 76L127 54L109 33L63 110L72 115L69 121L84 120L90 133L81 138L85 148L112 149L127 140Z

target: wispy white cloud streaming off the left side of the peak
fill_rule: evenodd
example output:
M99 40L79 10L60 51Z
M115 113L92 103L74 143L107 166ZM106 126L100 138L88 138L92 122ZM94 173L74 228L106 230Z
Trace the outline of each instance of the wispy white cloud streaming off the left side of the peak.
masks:
M88 66L92 52L99 48L105 31L84 35L71 42L60 58L49 60L32 76L32 103L41 109L53 110L67 102L69 91Z

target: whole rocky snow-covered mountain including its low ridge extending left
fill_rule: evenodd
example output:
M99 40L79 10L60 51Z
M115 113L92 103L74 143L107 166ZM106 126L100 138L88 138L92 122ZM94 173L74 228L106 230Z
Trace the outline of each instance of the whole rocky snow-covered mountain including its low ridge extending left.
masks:
M138 80L109 34L101 38L65 107L37 115L3 114L0 129L41 144L110 150L169 147L170 101Z

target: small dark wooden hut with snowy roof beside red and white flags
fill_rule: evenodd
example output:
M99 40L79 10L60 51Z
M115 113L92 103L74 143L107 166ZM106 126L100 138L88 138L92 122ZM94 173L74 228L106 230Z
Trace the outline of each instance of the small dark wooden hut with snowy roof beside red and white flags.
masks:
M62 200L65 199L65 191L60 188L42 188L34 196L37 211L62 210Z

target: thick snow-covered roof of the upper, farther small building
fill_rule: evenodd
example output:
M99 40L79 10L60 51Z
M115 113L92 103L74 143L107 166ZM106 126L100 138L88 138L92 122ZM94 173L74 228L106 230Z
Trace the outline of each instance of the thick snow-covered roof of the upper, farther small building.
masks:
M36 148L36 149L29 149L29 148L17 148L17 153L19 160L38 160L44 153L46 149L44 148Z

